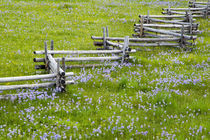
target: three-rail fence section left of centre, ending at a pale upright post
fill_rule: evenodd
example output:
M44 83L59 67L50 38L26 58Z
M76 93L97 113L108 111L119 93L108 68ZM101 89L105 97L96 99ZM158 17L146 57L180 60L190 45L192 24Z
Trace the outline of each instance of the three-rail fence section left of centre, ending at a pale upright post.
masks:
M51 59L55 61L62 61L64 66L63 69L71 69L71 68L80 68L80 67L96 67L96 66L110 66L115 65L115 63L108 63L108 64L72 64L74 62L89 62L89 61L120 61L120 64L128 62L131 57L129 53L135 53L135 50L131 50L128 47L128 37L125 37L124 44L120 45L116 50L60 50L56 51L51 49L50 51L45 48L42 51L34 51L34 54L43 55L48 54L51 56ZM54 55L77 55L76 57L63 57L63 58L52 58ZM80 56L80 55L102 55L102 56ZM106 56L109 55L109 56ZM111 56L110 56L111 55ZM36 69L48 69L48 61L45 58L34 58L34 62L44 62L45 65L36 65ZM66 62L72 62L70 65L66 65Z

